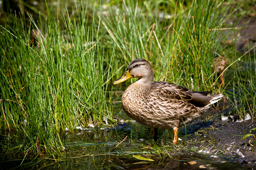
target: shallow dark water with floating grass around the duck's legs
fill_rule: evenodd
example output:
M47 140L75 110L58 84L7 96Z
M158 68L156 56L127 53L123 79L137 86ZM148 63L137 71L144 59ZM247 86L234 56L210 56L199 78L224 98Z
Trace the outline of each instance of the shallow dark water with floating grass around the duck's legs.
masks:
M210 114L207 115L211 116ZM179 129L180 145L172 144L173 130L159 130L157 145L152 141L153 130L146 128L130 118L123 112L119 115L127 121L113 127L84 128L76 133L63 131L60 133L65 147L65 158L55 157L35 162L25 160L24 169L246 169L249 164L240 164L236 158L226 158L224 155L210 157L199 154L199 148L186 147L194 137L195 131L208 127L212 121L202 123L199 119ZM186 135L187 134L187 135ZM126 138L127 137L127 138ZM123 139L125 139L123 141ZM122 143L120 143L123 141ZM118 143L120 143L118 145ZM117 146L118 145L118 146ZM117 146L117 147L116 147ZM139 160L134 155L150 158L153 162ZM1 169L17 167L22 160L11 160L2 163ZM29 162L34 162L31 165Z

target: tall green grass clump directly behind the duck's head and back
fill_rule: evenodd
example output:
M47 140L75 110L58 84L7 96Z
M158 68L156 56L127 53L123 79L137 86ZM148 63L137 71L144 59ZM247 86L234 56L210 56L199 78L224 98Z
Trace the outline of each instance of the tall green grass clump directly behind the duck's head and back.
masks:
M119 16L106 16L104 26L109 43L117 41L116 55L123 60L116 67L124 63L127 66L135 58L145 58L155 70L155 80L168 80L196 91L217 89L212 62L214 52L222 50L220 42L225 37L214 29L225 22L219 16L226 7L218 2L203 5L193 1L191 8L171 15L163 13L162 18L157 7L148 11L147 6L139 8L127 2L118 8L124 11ZM183 8L179 3L177 7ZM121 74L119 71L116 78Z

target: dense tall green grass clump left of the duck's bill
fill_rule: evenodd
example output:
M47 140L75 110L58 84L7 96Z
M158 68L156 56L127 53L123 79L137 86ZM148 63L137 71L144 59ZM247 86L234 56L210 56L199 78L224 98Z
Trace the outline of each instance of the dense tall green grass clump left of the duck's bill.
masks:
M74 20L65 12L63 18L48 13L45 28L34 20L26 25L19 16L13 26L1 25L0 128L20 131L23 150L61 152L60 130L112 120L106 98L110 71L104 67L104 56L111 61L112 54L101 45L101 25L93 17L86 27L86 8L79 10ZM45 32L35 46L32 27Z

